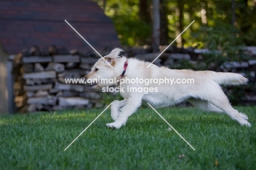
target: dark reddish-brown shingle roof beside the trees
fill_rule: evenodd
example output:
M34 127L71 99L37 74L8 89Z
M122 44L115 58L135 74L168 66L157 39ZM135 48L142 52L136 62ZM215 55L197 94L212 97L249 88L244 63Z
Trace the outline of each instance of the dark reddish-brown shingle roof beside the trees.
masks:
M120 45L112 21L87 0L0 1L0 42L9 54L49 45L89 50L67 20L96 50Z

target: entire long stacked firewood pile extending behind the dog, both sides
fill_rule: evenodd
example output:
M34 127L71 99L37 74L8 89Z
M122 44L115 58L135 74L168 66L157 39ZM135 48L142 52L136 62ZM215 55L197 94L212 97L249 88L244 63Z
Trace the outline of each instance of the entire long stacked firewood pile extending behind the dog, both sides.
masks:
M153 52L150 46L124 46L126 57L136 57L152 62L166 46L160 46L159 52ZM104 49L101 55L107 55L113 47ZM235 72L249 77L256 84L256 47L248 47L248 54L255 58L244 62L225 62L222 66L214 63L208 70ZM170 46L154 62L158 66L178 65L178 60L187 60L191 65L204 65L203 53L207 49L177 48ZM102 92L89 89L85 84L66 84L65 78L82 78L100 58L95 52L68 51L65 48L40 51L37 46L24 50L13 60L15 102L20 112L39 110L59 110L67 108L102 107ZM246 72L245 72L246 71ZM232 89L224 89L232 93ZM256 103L256 92L248 90L243 97L245 103Z

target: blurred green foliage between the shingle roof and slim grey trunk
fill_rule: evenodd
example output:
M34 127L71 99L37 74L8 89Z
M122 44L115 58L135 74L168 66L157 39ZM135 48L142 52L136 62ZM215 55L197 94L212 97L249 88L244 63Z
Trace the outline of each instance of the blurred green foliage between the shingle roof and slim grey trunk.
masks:
M109 16L115 25L118 37L123 45L144 45L151 35L151 25L138 16L138 2L133 1L107 1L105 14ZM102 5L102 1L98 1Z

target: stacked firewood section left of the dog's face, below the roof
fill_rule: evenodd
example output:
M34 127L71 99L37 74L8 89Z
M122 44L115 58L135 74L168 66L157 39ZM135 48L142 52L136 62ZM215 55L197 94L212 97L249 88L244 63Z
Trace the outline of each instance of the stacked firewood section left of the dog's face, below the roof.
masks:
M101 107L98 92L85 84L66 84L65 78L82 78L98 57L87 52L56 49L42 52L34 46L16 55L13 61L15 103L19 112L67 108Z

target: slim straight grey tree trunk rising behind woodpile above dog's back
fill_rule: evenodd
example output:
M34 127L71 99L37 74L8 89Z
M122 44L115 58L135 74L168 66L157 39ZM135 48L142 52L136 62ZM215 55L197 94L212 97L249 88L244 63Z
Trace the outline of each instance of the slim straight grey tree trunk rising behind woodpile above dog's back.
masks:
M159 0L152 0L153 2L153 35L152 48L154 51L159 51L160 45L160 10Z

